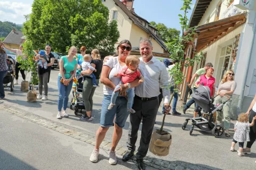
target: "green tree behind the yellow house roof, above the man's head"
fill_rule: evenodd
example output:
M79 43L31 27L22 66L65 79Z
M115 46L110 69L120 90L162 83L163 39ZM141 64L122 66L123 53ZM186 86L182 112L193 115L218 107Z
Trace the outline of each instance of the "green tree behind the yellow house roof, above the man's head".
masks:
M150 25L156 28L158 36L164 41L167 42L167 39L174 39L180 35L180 31L175 28L167 28L163 23L156 23L155 21L149 22Z

